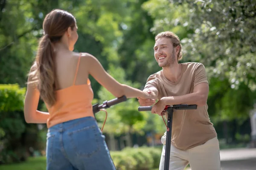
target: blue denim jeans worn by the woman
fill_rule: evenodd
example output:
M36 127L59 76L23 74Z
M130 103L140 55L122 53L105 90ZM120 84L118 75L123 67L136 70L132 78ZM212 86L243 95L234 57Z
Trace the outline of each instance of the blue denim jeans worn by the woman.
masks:
M93 117L50 127L46 156L47 170L116 170Z

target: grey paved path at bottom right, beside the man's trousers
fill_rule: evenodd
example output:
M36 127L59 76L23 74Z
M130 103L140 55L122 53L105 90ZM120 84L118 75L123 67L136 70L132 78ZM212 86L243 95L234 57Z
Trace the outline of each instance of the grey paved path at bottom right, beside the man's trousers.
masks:
M256 170L256 148L225 149L220 156L221 170Z

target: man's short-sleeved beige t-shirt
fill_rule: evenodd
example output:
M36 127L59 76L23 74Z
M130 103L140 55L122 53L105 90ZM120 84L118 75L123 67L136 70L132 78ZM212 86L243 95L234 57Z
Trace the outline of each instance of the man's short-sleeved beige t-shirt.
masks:
M180 79L173 83L163 75L163 70L148 77L145 88L155 87L158 90L158 99L165 96L181 96L193 93L195 85L207 81L204 65L197 62L181 63ZM186 104L186 103L181 103ZM196 110L174 110L172 120L172 144L187 150L204 144L217 136L213 124L209 120L208 105ZM167 114L166 114L167 119Z

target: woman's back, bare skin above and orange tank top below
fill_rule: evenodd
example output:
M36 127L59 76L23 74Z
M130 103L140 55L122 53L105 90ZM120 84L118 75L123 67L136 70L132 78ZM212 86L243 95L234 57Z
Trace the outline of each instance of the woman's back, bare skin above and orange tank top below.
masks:
M48 128L73 119L94 117L91 104L93 90L86 67L81 66L81 57L81 54L60 51L53 59L56 101L52 106L46 103L49 111Z

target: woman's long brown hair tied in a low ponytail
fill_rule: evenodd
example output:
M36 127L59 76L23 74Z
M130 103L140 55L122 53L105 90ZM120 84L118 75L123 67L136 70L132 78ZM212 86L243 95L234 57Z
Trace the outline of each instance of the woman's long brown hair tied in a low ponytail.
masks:
M53 44L59 42L69 27L76 26L72 14L60 9L52 10L43 23L45 35L40 39L29 83L35 83L41 99L50 107L55 104L55 67Z

